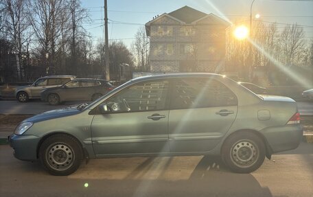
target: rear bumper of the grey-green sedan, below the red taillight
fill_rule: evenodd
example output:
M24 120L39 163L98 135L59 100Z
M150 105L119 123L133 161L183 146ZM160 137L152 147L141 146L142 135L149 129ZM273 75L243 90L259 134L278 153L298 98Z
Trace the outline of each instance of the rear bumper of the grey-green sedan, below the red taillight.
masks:
M261 132L272 153L295 149L303 139L303 128L300 124L270 127Z

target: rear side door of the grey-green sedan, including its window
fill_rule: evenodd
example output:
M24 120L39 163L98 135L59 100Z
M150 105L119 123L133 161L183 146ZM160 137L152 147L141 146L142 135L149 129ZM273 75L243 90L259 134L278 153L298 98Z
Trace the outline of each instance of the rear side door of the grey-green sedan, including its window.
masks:
M233 92L208 78L175 80L171 92L171 152L208 152L216 147L237 114Z

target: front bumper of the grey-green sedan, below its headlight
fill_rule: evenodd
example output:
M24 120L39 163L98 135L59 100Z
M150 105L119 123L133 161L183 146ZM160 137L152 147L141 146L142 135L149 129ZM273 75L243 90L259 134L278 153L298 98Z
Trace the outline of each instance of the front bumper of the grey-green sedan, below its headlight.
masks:
M37 159L37 147L39 137L34 135L10 135L8 137L10 146L14 149L14 157L24 161L34 161Z

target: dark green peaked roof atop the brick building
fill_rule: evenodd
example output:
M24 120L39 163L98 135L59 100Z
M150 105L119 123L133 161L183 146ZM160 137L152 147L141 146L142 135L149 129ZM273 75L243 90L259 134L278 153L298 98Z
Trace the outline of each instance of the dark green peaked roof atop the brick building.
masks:
M187 24L207 16L204 12L190 8L187 5L183 8L170 12L169 15Z

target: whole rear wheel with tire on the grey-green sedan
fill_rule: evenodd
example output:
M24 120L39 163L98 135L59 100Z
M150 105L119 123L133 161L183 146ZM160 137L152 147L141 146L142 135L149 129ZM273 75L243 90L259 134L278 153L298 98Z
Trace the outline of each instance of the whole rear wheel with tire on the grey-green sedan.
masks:
M237 173L250 173L264 162L266 148L253 132L237 132L229 136L222 147L222 161Z

